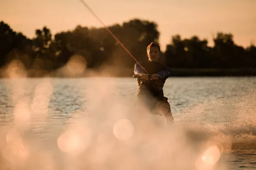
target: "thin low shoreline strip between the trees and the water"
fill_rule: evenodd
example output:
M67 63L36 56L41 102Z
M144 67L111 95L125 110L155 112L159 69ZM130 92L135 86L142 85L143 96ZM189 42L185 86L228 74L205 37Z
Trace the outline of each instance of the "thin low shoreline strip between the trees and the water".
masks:
M4 73L3 71L1 71ZM171 68L170 77L255 77L255 68L232 68L232 69L215 69L215 68ZM29 78L80 78L80 77L132 77L134 74L133 68L112 68L107 67L104 69L86 69L80 74L69 74L64 69L59 69L51 71L41 70L29 70L25 74L19 73L4 73L0 75L0 78L19 78L19 77L29 77Z

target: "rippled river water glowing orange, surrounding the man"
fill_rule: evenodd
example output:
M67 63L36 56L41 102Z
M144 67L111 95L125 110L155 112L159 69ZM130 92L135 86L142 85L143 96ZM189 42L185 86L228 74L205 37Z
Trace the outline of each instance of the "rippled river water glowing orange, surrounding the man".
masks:
M169 77L171 126L136 93L133 78L0 79L0 169L256 169L255 77Z

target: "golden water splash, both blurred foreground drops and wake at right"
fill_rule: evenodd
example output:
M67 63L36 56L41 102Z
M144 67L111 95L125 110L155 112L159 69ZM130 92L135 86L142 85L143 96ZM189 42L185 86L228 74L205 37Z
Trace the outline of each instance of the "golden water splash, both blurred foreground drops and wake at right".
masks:
M74 66L72 61L69 63L67 70ZM73 75L81 74L84 69L81 66ZM12 78L20 76L15 70L9 68L9 71ZM183 110L182 116L175 115L177 123L168 127L161 117L133 109L135 96L120 96L115 79L98 77L80 85L84 86L83 91L79 88L77 91L82 99L87 99L82 103L83 108L90 109L70 109L68 116L50 112L55 92L52 79L38 80L31 94L26 92L30 80L18 80L8 84L14 120L1 127L3 170L35 167L42 170L226 170L227 155L238 150L243 151L239 154L256 150L253 90L236 92L241 95L231 94L230 98L209 97L207 101L197 102ZM68 88L77 87L77 84L70 85L62 91L66 93ZM52 133L51 140L41 140L30 133L34 130L47 135L44 128L38 130L43 126L50 128L47 132Z

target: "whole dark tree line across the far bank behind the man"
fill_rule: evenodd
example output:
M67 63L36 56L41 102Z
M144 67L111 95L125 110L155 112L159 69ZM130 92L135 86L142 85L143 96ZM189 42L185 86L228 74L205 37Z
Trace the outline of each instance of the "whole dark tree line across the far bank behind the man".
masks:
M133 19L108 28L138 61L148 60L146 47L150 42L159 42L157 24L147 20ZM213 41L214 45L210 47L206 39L200 40L197 36L182 39L180 35L174 35L166 45L166 51L161 51L161 62L172 68L174 75L179 69L185 70L184 75L191 73L189 69L222 69L222 72L238 69L237 74L244 70L249 70L243 72L245 75L254 73L256 47L253 44L243 48L234 43L232 34L222 32L218 32ZM30 39L0 22L0 68L18 59L27 70L51 72L65 66L74 55L83 57L86 68L94 70L108 65L130 69L133 74L136 62L104 27L76 26L73 30L52 35L45 26L36 29L35 37Z

